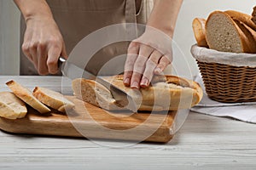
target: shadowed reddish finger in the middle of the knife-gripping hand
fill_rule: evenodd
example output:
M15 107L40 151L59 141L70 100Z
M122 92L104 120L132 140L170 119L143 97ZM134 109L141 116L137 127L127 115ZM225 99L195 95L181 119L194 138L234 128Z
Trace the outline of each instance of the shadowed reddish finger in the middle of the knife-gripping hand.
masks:
M40 75L49 74L48 66L46 65L47 52L45 45L38 45L38 73Z

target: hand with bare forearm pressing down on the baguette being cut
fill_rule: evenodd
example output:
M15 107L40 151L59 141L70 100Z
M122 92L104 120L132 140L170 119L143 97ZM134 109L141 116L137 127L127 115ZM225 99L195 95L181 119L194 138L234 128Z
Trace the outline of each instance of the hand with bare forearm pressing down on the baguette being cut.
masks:
M154 74L160 74L171 64L172 36L182 2L154 1L146 31L128 48L124 75L126 86L148 87Z

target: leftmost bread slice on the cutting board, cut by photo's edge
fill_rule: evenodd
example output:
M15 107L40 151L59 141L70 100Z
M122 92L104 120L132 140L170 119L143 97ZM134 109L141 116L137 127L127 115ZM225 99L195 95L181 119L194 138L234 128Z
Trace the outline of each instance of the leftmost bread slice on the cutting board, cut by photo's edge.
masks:
M25 103L11 92L0 92L0 116L17 119L26 116Z

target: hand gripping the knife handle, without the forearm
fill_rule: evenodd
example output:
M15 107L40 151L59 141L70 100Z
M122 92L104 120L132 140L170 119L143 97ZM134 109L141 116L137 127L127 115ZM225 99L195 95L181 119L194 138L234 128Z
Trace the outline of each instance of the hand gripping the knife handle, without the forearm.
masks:
M32 17L26 20L22 51L40 75L55 74L59 57L67 59L61 31L51 17Z

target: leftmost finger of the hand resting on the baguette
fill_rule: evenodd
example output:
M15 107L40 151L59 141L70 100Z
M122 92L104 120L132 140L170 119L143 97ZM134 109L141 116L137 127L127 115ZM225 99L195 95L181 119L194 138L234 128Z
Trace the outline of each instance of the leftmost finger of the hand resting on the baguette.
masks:
M131 42L127 51L127 58L125 61L125 72L124 72L125 86L130 86L133 66L134 66L134 63L136 62L138 52L139 52L139 44L137 42Z

